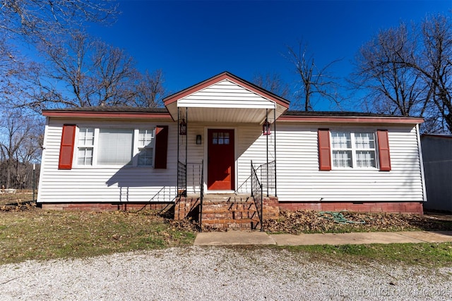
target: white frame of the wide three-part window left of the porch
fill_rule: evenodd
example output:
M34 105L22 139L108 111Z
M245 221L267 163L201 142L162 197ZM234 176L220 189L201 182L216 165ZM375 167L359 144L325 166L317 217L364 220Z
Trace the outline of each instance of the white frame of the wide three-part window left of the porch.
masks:
M80 132L81 129L92 129L94 131L94 143L93 145L81 145L80 141L79 141L79 137L80 137ZM118 129L118 130L133 130L133 136L132 136L132 157L131 157L131 164L129 165L109 165L109 164L98 164L98 152L99 152L99 137L100 137L100 130L109 130L109 129ZM75 153L76 155L74 156L73 159L73 166L76 168L93 168L93 167L102 167L102 168L119 168L119 167L125 167L125 168L153 168L154 167L154 162L155 162L155 129L156 126L155 125L150 125L147 127L135 127L135 128L129 128L129 127L124 127L124 128L119 128L119 127L93 127L93 126L85 126L85 125L78 125L77 126L77 134L76 134L76 145L75 147ZM147 131L151 131L151 140L148 143L148 145L142 146L139 145L139 134L141 130L147 130ZM91 147L93 149L93 159L92 159L92 163L91 164L79 164L78 163L78 156L79 156L79 149L81 148L86 148L86 147ZM153 148L153 158L152 158L152 163L151 164L146 164L146 165L139 165L138 162L138 156L139 153L141 151L141 149L144 148Z

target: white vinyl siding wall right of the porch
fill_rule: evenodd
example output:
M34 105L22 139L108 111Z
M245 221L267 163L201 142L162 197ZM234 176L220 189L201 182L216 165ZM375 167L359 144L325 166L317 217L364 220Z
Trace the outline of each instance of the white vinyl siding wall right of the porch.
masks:
M336 168L319 171L317 130L325 125L277 123L280 202L423 202L417 132L410 125L387 125L391 171ZM379 125L381 128L381 125ZM332 127L331 127L332 128ZM369 125L338 130L375 132ZM272 134L273 135L273 134Z

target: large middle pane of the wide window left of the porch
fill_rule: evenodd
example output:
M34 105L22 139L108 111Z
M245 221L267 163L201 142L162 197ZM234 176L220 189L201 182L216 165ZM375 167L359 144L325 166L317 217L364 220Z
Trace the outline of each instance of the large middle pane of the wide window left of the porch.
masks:
M133 130L100 129L97 164L131 164L132 144Z

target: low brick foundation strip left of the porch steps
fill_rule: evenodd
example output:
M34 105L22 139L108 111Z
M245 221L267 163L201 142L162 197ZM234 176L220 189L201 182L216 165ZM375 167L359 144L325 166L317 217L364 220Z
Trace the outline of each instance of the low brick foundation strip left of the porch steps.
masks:
M131 204L131 203L42 203L42 209L60 211L138 211L138 210L158 210L167 211L174 207L173 203L153 203L153 204Z

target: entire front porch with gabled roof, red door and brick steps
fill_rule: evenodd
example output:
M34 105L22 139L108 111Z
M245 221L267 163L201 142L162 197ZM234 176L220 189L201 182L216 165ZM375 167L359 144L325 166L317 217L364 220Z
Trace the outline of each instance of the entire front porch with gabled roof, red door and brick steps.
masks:
M174 219L263 231L279 214L275 121L288 102L221 73L164 103L178 125Z

